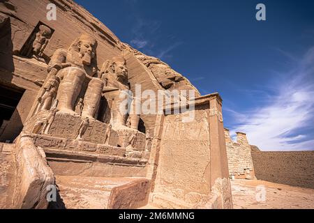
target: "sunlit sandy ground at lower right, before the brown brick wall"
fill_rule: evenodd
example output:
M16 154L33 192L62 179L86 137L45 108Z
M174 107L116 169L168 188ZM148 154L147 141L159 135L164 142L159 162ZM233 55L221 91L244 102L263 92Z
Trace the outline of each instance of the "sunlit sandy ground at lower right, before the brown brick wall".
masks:
M231 183L234 209L314 209L314 189L262 180Z

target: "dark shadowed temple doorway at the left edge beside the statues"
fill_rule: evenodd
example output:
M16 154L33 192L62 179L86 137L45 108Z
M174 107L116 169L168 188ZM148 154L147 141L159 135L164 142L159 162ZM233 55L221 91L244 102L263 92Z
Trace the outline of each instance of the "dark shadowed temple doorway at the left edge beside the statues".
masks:
M0 84L0 141L9 142L15 137L4 137L2 134L6 130L23 93L24 90L10 88ZM19 128L19 126L17 126L17 128Z

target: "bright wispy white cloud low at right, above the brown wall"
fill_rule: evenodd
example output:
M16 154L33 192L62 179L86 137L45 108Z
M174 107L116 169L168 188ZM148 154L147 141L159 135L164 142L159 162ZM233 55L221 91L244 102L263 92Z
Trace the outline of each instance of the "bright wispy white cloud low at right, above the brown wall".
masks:
M237 118L232 129L246 132L263 151L314 150L314 47L284 77L273 86L274 95L265 91L264 106L242 114L225 110Z

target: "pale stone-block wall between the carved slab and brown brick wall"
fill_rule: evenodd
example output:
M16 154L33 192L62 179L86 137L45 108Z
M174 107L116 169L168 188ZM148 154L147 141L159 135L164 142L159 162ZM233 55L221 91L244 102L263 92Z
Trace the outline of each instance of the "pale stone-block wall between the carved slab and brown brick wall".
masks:
M251 146L248 144L246 134L237 132L237 142L230 138L229 130L225 129L225 145L229 175L235 178L253 178L254 167L251 156Z

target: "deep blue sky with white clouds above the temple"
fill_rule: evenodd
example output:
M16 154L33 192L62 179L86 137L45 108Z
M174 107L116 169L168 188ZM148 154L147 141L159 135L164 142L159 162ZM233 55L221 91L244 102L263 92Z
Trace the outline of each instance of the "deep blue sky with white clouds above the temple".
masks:
M202 95L219 92L225 128L263 151L314 150L314 1L75 1Z

